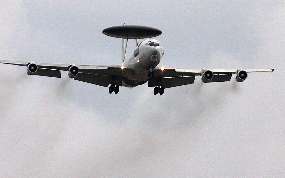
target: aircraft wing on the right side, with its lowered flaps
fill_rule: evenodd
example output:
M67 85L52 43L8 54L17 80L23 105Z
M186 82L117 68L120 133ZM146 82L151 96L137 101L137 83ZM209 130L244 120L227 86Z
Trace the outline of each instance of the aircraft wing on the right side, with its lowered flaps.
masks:
M232 74L241 69L203 69L203 68L173 68L157 66L154 68L154 77L149 80L149 87L163 86L164 88L177 87L194 83L196 75L203 75L206 70L213 72L209 82L230 81ZM248 72L273 72L274 69L242 69Z

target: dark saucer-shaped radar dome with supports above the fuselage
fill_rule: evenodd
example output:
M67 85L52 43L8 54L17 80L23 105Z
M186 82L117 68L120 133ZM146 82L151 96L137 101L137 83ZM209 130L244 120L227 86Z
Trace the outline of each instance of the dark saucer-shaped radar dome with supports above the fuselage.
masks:
M128 39L135 39L136 45L138 46L138 39L157 37L161 35L162 32L153 27L123 24L103 29L102 33L110 37L122 38L122 60L125 61ZM126 46L124 39L127 39Z

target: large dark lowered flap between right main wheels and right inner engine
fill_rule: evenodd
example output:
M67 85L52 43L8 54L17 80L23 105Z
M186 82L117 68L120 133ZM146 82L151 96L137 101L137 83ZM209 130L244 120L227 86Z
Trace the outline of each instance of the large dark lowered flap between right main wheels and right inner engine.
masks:
M171 77L171 78L150 78L148 87L162 86L164 88L177 87L194 83L195 76Z

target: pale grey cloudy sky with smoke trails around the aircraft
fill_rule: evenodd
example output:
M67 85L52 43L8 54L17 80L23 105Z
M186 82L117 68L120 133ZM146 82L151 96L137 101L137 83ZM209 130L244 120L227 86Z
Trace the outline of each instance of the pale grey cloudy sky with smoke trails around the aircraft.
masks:
M165 66L275 71L110 95L0 64L0 177L284 176L284 1L1 1L0 58L120 64L123 23L162 30Z

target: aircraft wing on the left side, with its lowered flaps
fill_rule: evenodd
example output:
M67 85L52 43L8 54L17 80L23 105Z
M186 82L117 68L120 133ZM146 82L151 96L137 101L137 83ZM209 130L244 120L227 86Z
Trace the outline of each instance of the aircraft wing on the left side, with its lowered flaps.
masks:
M19 66L28 66L34 62L0 60L2 64L12 64ZM73 64L49 64L49 63L34 63L37 65L37 72L33 75L49 76L61 78L61 70L68 71ZM75 80L92 83L107 87L109 84L122 86L122 79L130 73L133 73L131 66L124 65L76 65L79 68L79 74L74 77Z

